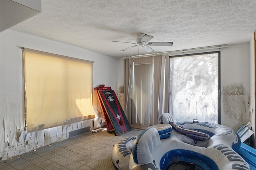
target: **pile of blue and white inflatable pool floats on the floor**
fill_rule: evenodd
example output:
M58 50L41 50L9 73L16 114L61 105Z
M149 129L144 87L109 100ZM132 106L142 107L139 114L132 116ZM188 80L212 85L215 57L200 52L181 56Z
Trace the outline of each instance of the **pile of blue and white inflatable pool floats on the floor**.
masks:
M164 114L164 121L159 120L163 124L114 145L112 162L117 170L251 170L236 153L241 141L231 128L197 121L173 123Z

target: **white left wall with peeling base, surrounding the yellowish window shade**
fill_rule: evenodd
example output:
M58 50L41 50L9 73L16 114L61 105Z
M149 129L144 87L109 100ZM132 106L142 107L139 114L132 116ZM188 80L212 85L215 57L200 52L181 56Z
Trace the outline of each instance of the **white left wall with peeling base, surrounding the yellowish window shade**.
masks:
M101 121L96 118L37 132L27 133L24 131L21 47L94 61L93 86L105 84L117 91L118 71L116 65L118 60L116 58L11 30L1 32L0 158L2 160L64 140L68 138L68 132L72 130L88 126L92 130L92 124L94 124L94 128L98 128L97 126L100 126L99 121ZM96 95L94 95L94 110L97 117L100 107L95 106L95 101ZM27 144L30 139L32 139L32 143ZM26 145L22 146L24 142ZM18 147L18 144L21 146Z

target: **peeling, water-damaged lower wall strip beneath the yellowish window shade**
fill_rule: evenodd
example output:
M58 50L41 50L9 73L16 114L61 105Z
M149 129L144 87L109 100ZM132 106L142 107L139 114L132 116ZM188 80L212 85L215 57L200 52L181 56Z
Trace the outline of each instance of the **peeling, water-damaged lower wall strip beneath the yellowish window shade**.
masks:
M14 133L12 133L12 130L10 129L13 128L8 128L7 123L5 123L4 130L6 130L4 136L6 136L6 142L4 146L1 145L2 148L0 152L0 160L6 160L13 156L24 154L26 152L30 152L32 150L36 150L44 146L48 146L52 143L65 140L69 138L69 132L73 130L78 130L85 127L90 127L90 129L92 129L93 120L95 122L98 122L97 118L95 118L29 133L27 133L26 130L20 129L16 129ZM15 137L10 138L9 133L14 134Z

